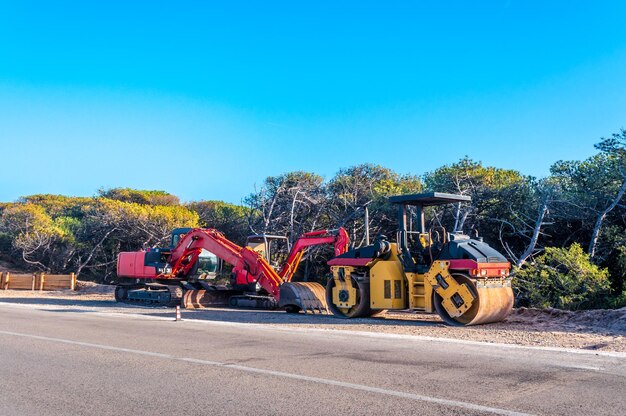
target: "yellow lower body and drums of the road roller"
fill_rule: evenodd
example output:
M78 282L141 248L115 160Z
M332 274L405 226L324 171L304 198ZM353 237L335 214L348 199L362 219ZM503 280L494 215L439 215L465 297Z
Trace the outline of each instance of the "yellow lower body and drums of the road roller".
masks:
M434 261L425 273L405 273L397 245L391 243L384 259L374 259L364 268L331 267L331 310L345 317L369 316L381 310L436 312L453 325L506 318L513 307L510 278L472 278L452 273L449 266L450 261ZM361 297L369 298L368 307L359 307Z

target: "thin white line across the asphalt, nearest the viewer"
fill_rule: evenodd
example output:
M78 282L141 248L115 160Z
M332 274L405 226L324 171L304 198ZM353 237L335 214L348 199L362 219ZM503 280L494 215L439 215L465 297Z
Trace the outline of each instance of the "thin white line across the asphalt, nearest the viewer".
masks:
M482 406L482 405L475 404L475 403L463 402L463 401L458 401L458 400L450 400L450 399L441 399L437 397L424 396L421 394L413 394L413 393L407 393L403 391L366 386L363 384L346 383L346 382L339 381L339 380L332 380L332 379L320 378L320 377L310 377L310 376L305 376L302 374L286 373L283 371L274 371L274 370L268 370L264 368L247 367L243 365L228 364L228 363L223 363L219 361L209 361L209 360L200 360L197 358L177 357L175 355L162 354L162 353L152 352L152 351L115 347L112 345L105 345L105 344L93 344L90 342L75 341L75 340L64 339L64 338L52 338L52 337L45 337L41 335L25 334L25 333L20 333L20 332L0 331L0 334L15 336L15 337L22 337L22 338L37 339L37 340L47 341L47 342L77 345L77 346L86 347L86 348L97 348L101 350L144 355L144 356L156 357L156 358L172 360L172 361L182 361L182 362L187 362L187 363L208 365L208 366L213 366L213 367L223 367L223 368L229 368L229 369L238 370L238 371L244 371L248 373L263 374L263 375L274 376L274 377L289 378L292 380L307 381L310 383L318 383L318 384L325 384L329 386L343 387L343 388L352 389L352 390L365 391L368 393L383 394L387 396L394 396L394 397L399 397L403 399L415 400L419 402L434 403L434 404L443 405L443 406L457 407L461 409L473 410L473 411L484 412L484 413L491 413L491 414L496 414L496 415L530 416L529 413L520 413L520 412L515 412L515 411L507 410L507 409L499 409L497 407Z

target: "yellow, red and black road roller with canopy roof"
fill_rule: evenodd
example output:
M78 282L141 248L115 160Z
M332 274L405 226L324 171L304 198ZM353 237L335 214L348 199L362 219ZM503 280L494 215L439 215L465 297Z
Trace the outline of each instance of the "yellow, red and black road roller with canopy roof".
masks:
M398 206L396 242L378 236L373 244L328 261L333 276L326 300L335 316L409 309L436 312L450 325L498 322L508 316L513 291L506 258L481 238L425 227L424 208L468 202L470 197L430 192L389 200Z

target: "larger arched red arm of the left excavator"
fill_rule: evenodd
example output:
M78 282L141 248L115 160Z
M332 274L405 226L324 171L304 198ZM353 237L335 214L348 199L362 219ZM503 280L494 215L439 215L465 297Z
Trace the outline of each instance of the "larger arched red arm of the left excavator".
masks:
M263 256L248 247L238 246L212 228L194 228L180 239L169 257L171 275L179 278L187 276L202 249L232 264L238 284L258 283L270 296L279 300L283 279Z

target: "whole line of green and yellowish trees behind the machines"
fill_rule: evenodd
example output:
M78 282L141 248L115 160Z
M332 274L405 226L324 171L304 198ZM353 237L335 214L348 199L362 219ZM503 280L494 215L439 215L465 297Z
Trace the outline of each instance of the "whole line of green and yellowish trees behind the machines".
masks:
M325 180L312 172L266 178L241 205L181 203L164 191L101 189L94 197L31 195L0 203L0 257L16 267L115 279L120 251L165 246L176 227L212 227L243 244L252 233L287 236L344 226L365 243L395 238L387 197L426 191L470 203L428 209L429 226L480 235L514 265L520 305L568 309L626 305L626 130L603 138L586 160L558 161L545 178L470 158L421 175L362 164ZM329 247L307 253L300 279L328 273Z

